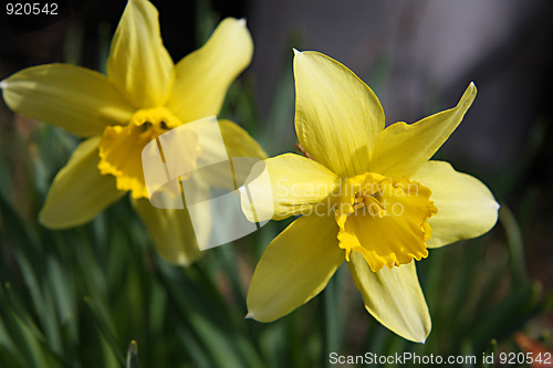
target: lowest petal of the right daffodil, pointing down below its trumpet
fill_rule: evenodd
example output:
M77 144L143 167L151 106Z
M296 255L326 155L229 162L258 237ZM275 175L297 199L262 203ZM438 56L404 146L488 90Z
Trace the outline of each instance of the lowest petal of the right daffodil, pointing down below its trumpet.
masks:
M411 341L424 343L431 329L415 262L373 272L361 254L347 263L365 307L385 327Z

